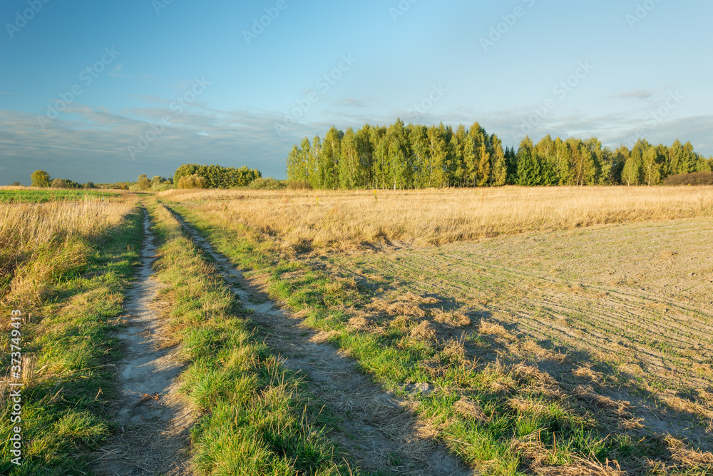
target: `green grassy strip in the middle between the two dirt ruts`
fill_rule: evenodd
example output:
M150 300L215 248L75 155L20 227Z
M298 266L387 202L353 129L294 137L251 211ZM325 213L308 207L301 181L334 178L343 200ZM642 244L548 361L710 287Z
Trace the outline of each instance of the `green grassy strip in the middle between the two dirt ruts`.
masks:
M181 392L199 412L193 468L205 475L349 475L324 435L332 417L257 342L237 298L210 258L163 208L150 205L158 237L160 299L188 367Z

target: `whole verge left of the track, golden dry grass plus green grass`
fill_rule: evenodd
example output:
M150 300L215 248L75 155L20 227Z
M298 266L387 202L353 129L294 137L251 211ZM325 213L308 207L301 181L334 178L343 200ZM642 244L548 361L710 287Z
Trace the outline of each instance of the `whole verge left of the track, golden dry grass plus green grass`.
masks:
M0 385L0 474L86 474L112 428L106 408L120 351L111 333L122 325L143 215L131 202L11 207L20 208L1 213L18 220L2 232L16 263L4 262L12 272L0 305L1 363L9 370L10 311L19 309L22 377ZM24 384L20 466L11 463L10 382Z

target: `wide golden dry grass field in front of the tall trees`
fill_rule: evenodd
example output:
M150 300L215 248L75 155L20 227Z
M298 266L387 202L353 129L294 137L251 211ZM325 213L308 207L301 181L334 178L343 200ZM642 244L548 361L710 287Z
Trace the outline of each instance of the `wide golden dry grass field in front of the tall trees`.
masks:
M713 187L552 187L425 191L166 191L223 223L284 248L355 250L380 243L437 245L713 215Z

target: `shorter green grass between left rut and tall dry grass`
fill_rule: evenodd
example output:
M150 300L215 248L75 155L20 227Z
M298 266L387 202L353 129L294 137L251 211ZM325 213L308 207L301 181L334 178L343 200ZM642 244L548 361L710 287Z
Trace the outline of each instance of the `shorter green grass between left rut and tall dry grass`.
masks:
M64 249L56 256L43 250L46 259L70 260L63 273L51 275L39 302L30 312L22 306L21 348L21 465L11 463L9 441L13 402L2 391L0 410L0 474L86 474L89 452L111 430L107 402L116 396L119 358L117 340L111 336L121 324L125 290L140 257L143 214L137 208L102 236L83 242L86 258L76 263ZM10 319L13 302L2 306L2 318ZM20 307L20 306L18 306ZM8 349L10 331L0 335ZM2 365L9 368L9 355Z

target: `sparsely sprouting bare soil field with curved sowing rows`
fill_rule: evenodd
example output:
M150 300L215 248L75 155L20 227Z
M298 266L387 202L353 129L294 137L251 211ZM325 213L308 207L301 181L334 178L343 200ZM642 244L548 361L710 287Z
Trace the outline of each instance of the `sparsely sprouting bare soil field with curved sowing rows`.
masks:
M713 219L528 233L319 262L382 307L407 291L473 325L434 324L470 358L593 385L647 430L713 450ZM315 260L317 261L317 260ZM313 263L314 265L317 265ZM369 320L370 316L364 316Z

